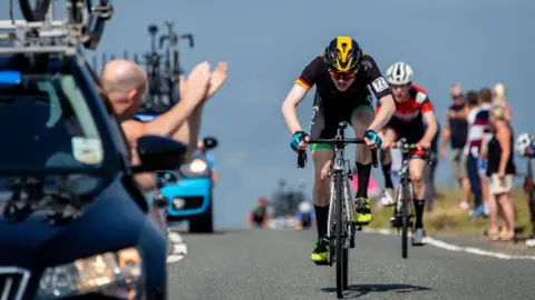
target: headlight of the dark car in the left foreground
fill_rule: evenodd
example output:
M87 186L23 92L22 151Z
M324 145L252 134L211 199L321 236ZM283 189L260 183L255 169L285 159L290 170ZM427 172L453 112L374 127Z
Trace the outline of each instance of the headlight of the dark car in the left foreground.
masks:
M134 299L142 277L142 257L135 248L106 252L47 268L39 281L38 299L57 299L100 292Z

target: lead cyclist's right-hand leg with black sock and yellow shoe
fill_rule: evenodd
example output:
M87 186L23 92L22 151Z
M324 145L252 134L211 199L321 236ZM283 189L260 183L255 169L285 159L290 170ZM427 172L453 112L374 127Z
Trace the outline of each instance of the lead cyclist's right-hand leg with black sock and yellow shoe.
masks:
M373 121L373 108L370 106L359 106L351 116L351 124L353 126L354 136L363 137L366 130ZM368 224L373 220L371 214L370 199L368 199L368 184L371 174L371 152L363 144L357 144L357 173L359 177L356 197L357 221L361 224Z

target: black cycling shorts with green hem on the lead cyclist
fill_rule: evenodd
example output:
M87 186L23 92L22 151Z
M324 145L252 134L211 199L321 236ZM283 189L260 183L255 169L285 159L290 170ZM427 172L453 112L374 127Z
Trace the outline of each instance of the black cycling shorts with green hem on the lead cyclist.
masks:
M342 121L352 123L353 114L358 110L368 110L373 113L371 94L366 99L353 101L335 102L337 100L325 103L321 96L315 93L309 129L311 139L333 139L337 136L338 124ZM310 149L333 149L333 147L328 143L315 143L311 144Z

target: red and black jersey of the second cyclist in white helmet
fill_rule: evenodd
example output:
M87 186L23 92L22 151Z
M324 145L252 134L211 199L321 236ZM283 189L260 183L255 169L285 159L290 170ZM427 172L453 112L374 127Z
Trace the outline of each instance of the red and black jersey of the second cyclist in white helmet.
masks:
M412 84L409 90L409 100L405 102L399 102L393 99L396 103L396 112L392 116L392 120L400 121L403 123L412 121L422 121L421 116L425 112L432 111L432 104L429 101L429 96L427 91ZM380 110L380 103L377 104L376 114Z

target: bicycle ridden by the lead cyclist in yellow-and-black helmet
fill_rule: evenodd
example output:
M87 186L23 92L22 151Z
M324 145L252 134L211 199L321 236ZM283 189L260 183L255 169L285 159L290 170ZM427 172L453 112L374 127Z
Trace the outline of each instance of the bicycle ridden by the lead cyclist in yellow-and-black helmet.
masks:
M347 122L341 122L333 139L311 139L308 144L329 143L334 147L334 156L331 162L331 196L327 227L327 238L330 241L329 266L337 263L337 297L343 298L343 290L348 290L348 256L349 248L354 248L354 233L362 230L357 222L357 212L351 192L352 179L351 166L344 158L344 148L350 143L364 143L363 138L346 139L343 131ZM373 167L378 167L377 150L371 150ZM304 168L307 151L301 150L298 157L298 168ZM334 233L333 233L334 232ZM349 239L348 239L349 238ZM348 246L349 240L349 246Z

